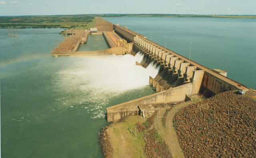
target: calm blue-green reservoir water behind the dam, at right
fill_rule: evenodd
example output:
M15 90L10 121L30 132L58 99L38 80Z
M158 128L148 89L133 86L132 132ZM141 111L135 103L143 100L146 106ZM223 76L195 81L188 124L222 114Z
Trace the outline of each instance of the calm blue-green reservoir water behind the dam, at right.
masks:
M120 17L104 18L142 33L161 46L256 89L256 19ZM167 38L165 38L167 37Z

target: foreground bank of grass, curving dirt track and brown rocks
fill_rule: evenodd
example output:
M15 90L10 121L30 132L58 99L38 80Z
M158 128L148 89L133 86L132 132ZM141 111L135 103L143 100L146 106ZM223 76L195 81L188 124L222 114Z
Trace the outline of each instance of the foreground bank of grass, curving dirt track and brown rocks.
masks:
M198 111L198 107L201 110ZM226 108L228 108L229 113L226 113ZM254 108L254 110L251 108ZM250 114L247 115L242 111L243 109L247 109L246 113L250 112ZM209 119L210 116L206 116L208 113L205 110L212 115L212 118ZM234 112L234 110L238 111ZM205 119L200 118L202 117L202 112L202 116L205 117ZM242 117L240 117L240 113L243 114ZM132 154L136 153L135 157L138 158L149 158L151 156L161 158L206 158L208 156L216 157L220 155L226 157L228 155L230 156L230 154L232 156L254 157L256 156L256 152L252 150L252 146L256 144L256 141L253 140L256 135L250 131L255 130L256 122L252 119L252 117L255 116L251 113L256 113L256 100L254 98L248 95L243 96L238 94L237 91L227 91L207 99L197 98L194 101L183 102L164 108L161 107L148 119L140 118L140 116L126 116L102 128L99 134L101 152L103 158L120 158L127 154L124 154L125 151L131 153L128 153L130 157L134 157ZM236 119L228 120L228 118L230 118L229 115L231 118L240 119L240 123L237 123ZM215 118L218 119L214 120ZM250 126L248 121L251 124ZM135 122L139 123L135 124ZM133 142L134 146L141 141L134 138L135 134L134 132L132 134L130 124L136 125L133 126L133 131L136 127L137 137L139 131L144 131L142 132L142 140L145 143L143 146L143 155L140 154L140 156L137 156L138 147L130 148L129 143L127 145L129 139L135 140L135 143ZM198 129L195 128L194 126L197 124L202 127ZM209 125L205 126L205 124ZM227 131L233 132L227 135L217 132L219 129L226 129L227 124L230 124ZM236 127L240 125L241 128ZM208 128L208 126L212 127ZM194 128L194 130L190 130L191 128ZM244 132L239 132L240 130L250 132L251 135L246 136ZM238 133L236 133L236 131ZM202 132L204 132L203 135ZM217 136L211 137L212 133L217 134ZM223 139L219 140L219 138ZM115 144L116 140L118 144ZM114 141L114 143L112 141ZM209 144L209 142L212 142L213 146L211 143ZM222 145L223 143L232 144L232 146L236 148L233 148L231 145ZM246 152L244 148L238 148L246 144L250 144L246 146L246 151L250 150L251 152ZM157 146L161 147L158 148ZM161 150L161 148L163 150ZM219 150L219 148L221 148L221 150Z

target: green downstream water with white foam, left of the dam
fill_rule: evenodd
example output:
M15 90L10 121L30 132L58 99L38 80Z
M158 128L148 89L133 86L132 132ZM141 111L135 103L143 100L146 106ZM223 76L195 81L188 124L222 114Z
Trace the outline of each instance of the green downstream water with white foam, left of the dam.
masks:
M2 158L100 158L106 108L154 93L141 56L50 56L60 31L0 29Z

